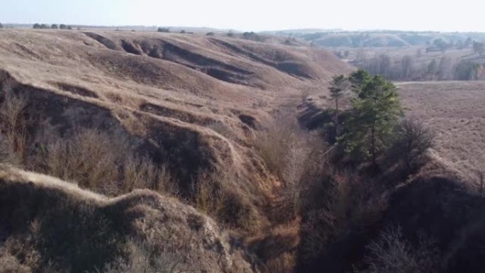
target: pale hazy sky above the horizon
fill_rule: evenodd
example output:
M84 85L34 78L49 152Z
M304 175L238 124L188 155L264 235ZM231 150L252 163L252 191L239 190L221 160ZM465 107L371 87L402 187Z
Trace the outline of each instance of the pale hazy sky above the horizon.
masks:
M1 23L485 32L480 0L0 0Z

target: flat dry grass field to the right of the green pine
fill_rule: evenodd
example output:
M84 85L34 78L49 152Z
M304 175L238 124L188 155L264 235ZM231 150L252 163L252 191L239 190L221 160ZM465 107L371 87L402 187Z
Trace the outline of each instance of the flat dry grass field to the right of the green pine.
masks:
M433 159L467 182L479 184L477 171L485 169L485 84L416 82L398 87L406 115L436 134Z

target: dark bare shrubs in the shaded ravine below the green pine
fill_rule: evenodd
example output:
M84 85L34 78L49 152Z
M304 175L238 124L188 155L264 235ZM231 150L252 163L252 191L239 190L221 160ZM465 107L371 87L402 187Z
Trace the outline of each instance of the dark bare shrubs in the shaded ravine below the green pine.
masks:
M328 247L332 244L345 243L342 242L345 236L355 228L366 230L372 227L386 208L386 199L379 194L379 186L355 172L328 169L323 176L303 196L300 255L305 262L330 252Z

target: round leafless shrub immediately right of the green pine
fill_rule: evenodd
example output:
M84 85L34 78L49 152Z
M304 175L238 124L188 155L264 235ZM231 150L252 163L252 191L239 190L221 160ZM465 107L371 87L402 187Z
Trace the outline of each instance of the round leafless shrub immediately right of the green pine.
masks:
M405 119L396 127L391 156L401 160L409 172L418 165L425 152L433 147L435 134L420 121Z

